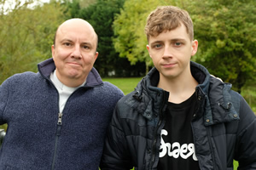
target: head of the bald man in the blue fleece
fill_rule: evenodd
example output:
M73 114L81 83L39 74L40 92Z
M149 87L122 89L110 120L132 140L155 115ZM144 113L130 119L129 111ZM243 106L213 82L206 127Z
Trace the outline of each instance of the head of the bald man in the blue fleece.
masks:
M96 59L97 35L81 19L63 22L55 33L52 58L58 79L68 87L78 87L86 80Z

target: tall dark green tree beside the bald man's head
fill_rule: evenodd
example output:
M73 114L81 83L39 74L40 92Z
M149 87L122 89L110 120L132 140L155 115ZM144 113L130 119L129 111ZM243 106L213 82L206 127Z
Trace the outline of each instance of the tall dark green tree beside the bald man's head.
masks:
M113 48L112 23L115 14L119 14L119 8L123 6L124 0L97 0L88 8L80 10L80 17L90 22L99 37L95 67L103 77L108 76L109 71L116 68L120 61L118 54Z

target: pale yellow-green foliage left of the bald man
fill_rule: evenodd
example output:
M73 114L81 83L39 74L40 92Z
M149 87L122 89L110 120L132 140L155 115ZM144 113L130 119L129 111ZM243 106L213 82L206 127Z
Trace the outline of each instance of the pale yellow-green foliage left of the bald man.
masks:
M18 72L37 71L38 62L51 57L61 7L59 3L46 3L28 8L31 3L18 1L20 5L1 14L0 83Z

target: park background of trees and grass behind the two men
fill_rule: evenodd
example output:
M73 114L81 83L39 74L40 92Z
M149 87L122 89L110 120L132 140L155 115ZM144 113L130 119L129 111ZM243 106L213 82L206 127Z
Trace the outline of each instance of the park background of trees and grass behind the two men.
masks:
M96 70L128 94L153 67L144 26L161 5L189 12L199 41L192 60L232 83L256 112L255 0L1 0L0 84L15 73L37 72L51 57L57 26L82 18L99 37Z

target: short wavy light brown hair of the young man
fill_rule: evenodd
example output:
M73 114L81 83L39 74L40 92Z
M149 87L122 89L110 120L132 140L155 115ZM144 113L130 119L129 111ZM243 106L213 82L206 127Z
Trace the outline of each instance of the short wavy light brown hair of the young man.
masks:
M148 15L145 33L147 38L156 37L163 31L172 31L183 24L189 38L194 39L193 22L189 13L174 6L160 6Z

